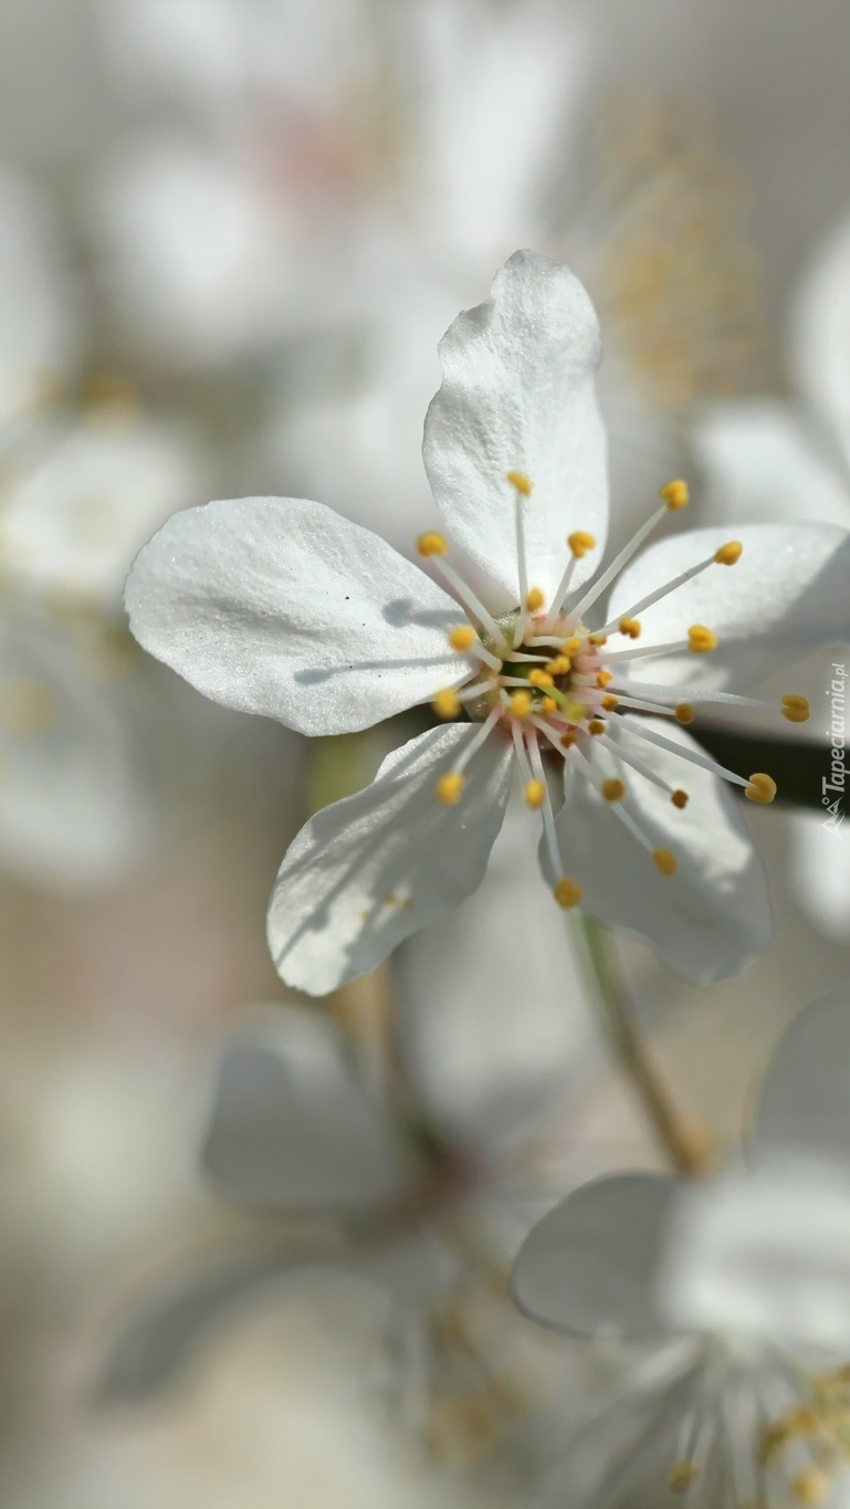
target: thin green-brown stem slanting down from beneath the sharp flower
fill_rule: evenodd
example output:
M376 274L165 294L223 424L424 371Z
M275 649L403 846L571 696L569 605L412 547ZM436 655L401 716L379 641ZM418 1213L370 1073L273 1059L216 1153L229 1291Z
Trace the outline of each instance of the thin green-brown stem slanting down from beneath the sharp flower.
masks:
M646 1052L634 1017L634 1005L616 952L610 928L592 917L581 917L584 942L598 987L605 1037L622 1071L643 1106L658 1144L681 1174L701 1174L707 1148L681 1118L673 1100Z

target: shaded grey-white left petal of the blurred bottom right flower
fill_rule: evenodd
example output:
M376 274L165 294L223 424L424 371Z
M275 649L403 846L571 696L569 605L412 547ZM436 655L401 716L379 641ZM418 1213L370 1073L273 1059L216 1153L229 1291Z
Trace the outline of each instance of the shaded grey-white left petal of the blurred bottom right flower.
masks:
M660 1335L655 1278L676 1191L678 1180L660 1174L613 1174L568 1195L519 1251L519 1308L577 1335Z

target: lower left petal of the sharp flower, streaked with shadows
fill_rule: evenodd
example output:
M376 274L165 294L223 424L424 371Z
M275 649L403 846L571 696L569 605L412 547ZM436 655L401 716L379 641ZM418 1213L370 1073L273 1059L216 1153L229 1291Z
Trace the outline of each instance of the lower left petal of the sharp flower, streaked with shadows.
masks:
M300 830L269 905L269 946L287 984L335 990L480 886L507 804L509 742L492 735L473 756L457 806L435 794L474 736L468 724L421 733L371 786Z

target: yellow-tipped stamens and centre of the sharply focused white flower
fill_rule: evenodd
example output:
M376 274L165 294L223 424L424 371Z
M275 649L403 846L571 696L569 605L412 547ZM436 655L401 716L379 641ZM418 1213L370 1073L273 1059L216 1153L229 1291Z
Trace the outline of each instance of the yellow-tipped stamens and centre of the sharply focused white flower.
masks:
M687 789L666 780L657 770L657 750L676 754L684 768L696 765L741 786L750 801L773 801L776 785L762 771L744 777L717 765L701 750L648 727L640 714L649 712L688 724L694 717L694 702L773 705L731 693L628 679L631 661L679 653L707 655L717 649L716 635L704 623L688 625L681 640L642 647L637 643L642 635L639 614L704 570L735 566L743 554L740 540L728 540L705 560L646 593L611 622L593 629L586 625L586 616L655 524L667 512L687 506L688 489L684 481L675 480L661 487L661 506L619 555L590 584L580 589L574 582L577 563L595 551L596 540L584 530L568 536L566 567L548 602L539 587L528 584L525 563L524 509L533 490L531 481L518 471L507 472L506 481L515 493L521 595L519 607L512 613L497 619L486 610L463 576L445 560L448 542L442 534L423 534L418 540L420 555L433 563L467 613L467 620L448 632L448 643L463 656L465 670L453 687L436 694L433 706L441 718L456 718L465 712L473 723L479 723L451 770L441 776L436 797L445 806L457 804L463 795L470 761L491 733L507 733L513 742L525 801L540 813L551 869L560 877L553 887L554 896L562 907L574 907L581 901L581 886L563 874L547 776L553 761L569 761L572 770L595 788L646 850L661 875L669 877L676 872L676 854L655 847L642 825L640 813L628 800L630 785L639 777L660 788L673 807L682 810L687 806ZM608 644L610 640L613 646ZM809 705L805 697L790 694L782 699L779 711L791 723L802 723L809 715ZM630 735L627 741L624 733ZM636 738L651 745L646 751L649 759L636 751Z

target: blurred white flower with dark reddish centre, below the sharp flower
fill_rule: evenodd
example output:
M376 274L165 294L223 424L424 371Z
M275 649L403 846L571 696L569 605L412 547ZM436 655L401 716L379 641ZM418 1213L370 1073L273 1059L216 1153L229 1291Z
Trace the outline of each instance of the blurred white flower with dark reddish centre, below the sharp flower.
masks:
M516 1052L504 927L512 884L498 875L483 887L503 924L483 961L447 928L430 937L453 958L456 1000L423 1000L403 979L397 1020L346 1014L335 1023L278 1008L231 1035L204 1163L220 1192L264 1224L246 1248L195 1263L151 1295L110 1352L104 1393L137 1399L159 1388L234 1302L269 1296L297 1274L341 1272L380 1302L388 1352L374 1382L441 1455L477 1455L513 1423L510 1390L525 1394L521 1364L531 1357L527 1328L504 1302L507 1263L563 1188L559 1121L587 1023L563 928L530 914L540 990L522 1013ZM448 1050L451 1073L439 1076Z

